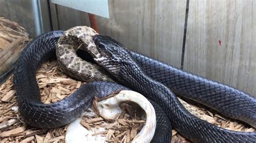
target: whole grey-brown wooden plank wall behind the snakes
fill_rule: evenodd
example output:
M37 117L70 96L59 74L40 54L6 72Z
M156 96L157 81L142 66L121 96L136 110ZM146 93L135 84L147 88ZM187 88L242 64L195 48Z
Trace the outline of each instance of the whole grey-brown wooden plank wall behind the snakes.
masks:
M44 30L48 5L41 2ZM256 1L190 0L184 69L256 95ZM53 30L90 26L86 12L50 2ZM180 67L186 0L109 0L110 19L97 16L100 34ZM0 16L35 37L31 1L0 0Z

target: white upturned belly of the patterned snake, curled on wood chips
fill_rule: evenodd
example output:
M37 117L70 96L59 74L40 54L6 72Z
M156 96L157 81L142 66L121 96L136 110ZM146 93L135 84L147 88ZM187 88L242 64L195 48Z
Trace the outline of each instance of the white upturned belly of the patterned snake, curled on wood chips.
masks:
M151 103L143 95L135 91L123 90L116 96L98 102L97 107L102 116L113 119L122 112L119 105L124 102L136 103L144 110L142 113L146 114L144 115L146 117L146 123L132 142L150 142L156 130L156 113ZM80 125L81 119L82 117L79 117L68 126L65 138L66 142L105 142L105 137L101 137L101 135L91 136L95 132L89 131ZM99 128L98 132L104 130L104 128Z

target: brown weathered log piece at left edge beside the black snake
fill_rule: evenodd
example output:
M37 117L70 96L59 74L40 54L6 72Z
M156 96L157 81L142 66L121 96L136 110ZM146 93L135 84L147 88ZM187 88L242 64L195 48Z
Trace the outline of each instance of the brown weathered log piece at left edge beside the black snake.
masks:
M29 41L25 28L0 17L0 83L12 73L19 54Z

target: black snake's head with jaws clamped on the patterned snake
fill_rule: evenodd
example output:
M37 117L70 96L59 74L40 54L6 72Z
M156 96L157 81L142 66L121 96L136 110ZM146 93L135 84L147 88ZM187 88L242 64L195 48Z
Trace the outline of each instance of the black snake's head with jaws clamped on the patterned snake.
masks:
M105 35L95 35L93 41L98 51L98 54L93 56L95 61L113 76L122 76L129 72L125 69L130 66L134 67L134 61L129 54L129 50L118 41Z

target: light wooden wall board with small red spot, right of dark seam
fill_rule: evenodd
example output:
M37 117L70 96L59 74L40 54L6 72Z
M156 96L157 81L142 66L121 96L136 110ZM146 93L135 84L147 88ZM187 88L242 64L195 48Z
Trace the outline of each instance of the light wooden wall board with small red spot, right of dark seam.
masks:
M253 0L190 1L184 69L256 95L254 6Z

